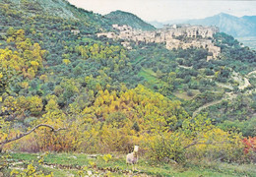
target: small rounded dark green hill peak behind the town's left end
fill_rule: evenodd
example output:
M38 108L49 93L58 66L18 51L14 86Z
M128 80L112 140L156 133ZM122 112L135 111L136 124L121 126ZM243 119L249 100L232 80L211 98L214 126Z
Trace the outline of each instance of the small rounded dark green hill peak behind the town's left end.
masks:
M123 11L114 11L104 16L110 21L111 24L118 25L128 25L133 29L142 29L142 30L154 30L150 24L147 24L134 14L123 12Z

